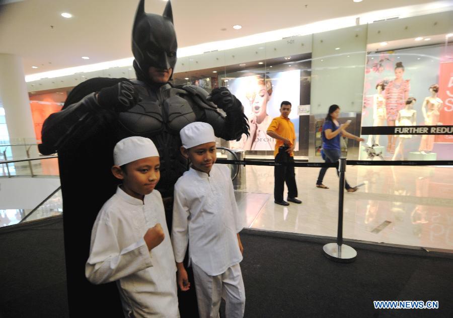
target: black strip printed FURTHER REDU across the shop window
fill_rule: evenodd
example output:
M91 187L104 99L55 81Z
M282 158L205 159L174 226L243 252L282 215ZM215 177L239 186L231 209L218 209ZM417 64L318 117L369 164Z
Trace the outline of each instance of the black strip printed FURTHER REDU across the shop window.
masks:
M436 126L370 126L362 127L362 135L453 135L453 125Z

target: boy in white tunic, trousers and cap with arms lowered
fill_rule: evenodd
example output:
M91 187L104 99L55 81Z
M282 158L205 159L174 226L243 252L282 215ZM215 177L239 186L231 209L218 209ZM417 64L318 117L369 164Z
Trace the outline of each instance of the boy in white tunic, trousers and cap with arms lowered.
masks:
M244 227L238 211L228 167L214 165L215 136L212 127L194 122L180 131L183 155L191 167L175 184L172 244L182 291L190 288L183 265L189 245L200 318L219 315L225 299L227 318L243 317L245 291L241 267Z

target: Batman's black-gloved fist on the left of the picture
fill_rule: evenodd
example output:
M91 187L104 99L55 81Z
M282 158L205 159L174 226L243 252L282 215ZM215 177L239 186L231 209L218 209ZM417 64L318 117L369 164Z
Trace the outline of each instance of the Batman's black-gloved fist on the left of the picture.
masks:
M141 98L130 82L120 82L114 86L103 88L98 93L98 103L105 109L125 112L135 106Z

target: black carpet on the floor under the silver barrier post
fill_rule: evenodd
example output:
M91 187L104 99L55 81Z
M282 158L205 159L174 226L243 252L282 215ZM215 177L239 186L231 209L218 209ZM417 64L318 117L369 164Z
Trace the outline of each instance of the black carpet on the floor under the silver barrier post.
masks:
M61 216L0 228L0 317L67 317ZM357 260L323 255L322 237L241 232L245 317L453 317L453 257L345 242ZM438 300L439 309L374 309L373 300ZM83 305L83 304L81 304Z

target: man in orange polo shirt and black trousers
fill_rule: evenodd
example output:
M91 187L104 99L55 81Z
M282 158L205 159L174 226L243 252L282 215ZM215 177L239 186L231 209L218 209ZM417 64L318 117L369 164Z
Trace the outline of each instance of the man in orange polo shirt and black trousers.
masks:
M283 101L280 104L280 117L275 117L269 127L267 134L276 140L274 157L275 162L293 163L294 162L294 145L295 131L294 125L288 116L291 112L291 103ZM280 205L289 205L283 200L283 187L286 182L288 187L289 202L302 203L297 200L297 186L295 182L294 166L279 165L274 167L274 202Z

